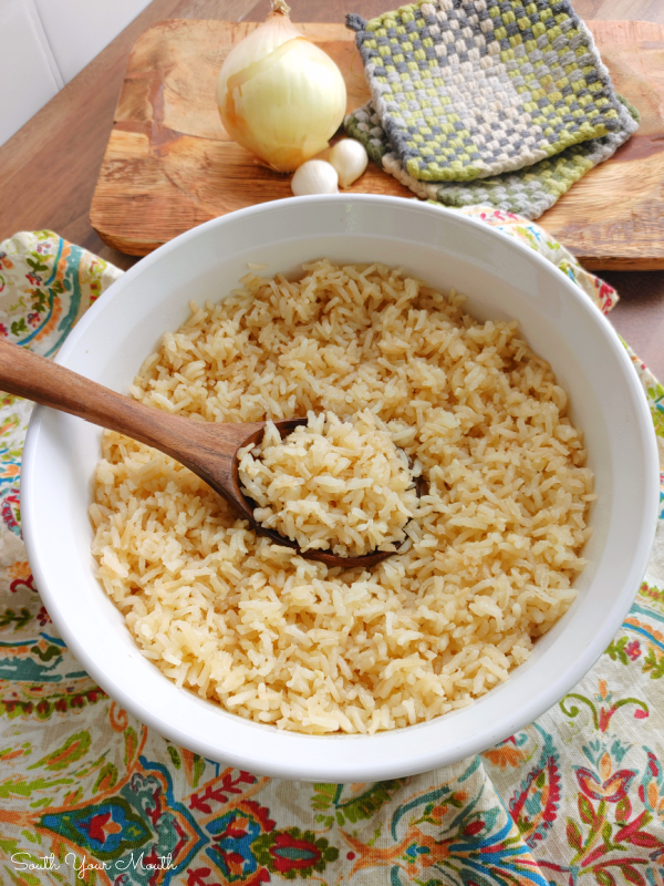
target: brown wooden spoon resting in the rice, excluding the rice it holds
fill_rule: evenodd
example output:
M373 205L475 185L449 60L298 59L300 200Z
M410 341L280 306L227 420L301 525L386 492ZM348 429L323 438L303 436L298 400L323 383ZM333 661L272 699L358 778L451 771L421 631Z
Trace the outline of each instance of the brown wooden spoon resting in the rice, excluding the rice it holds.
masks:
M310 560L350 569L375 566L394 553L375 550L362 557L340 557L328 550L301 552L295 542L257 524L252 503L240 491L237 456L238 450L258 443L266 422L196 422L173 415L116 394L70 369L1 339L0 389L77 415L86 422L117 431L159 450L222 495L238 516L249 521L260 535L268 536L278 545L293 548ZM299 424L307 424L307 419L288 419L274 424L283 437Z

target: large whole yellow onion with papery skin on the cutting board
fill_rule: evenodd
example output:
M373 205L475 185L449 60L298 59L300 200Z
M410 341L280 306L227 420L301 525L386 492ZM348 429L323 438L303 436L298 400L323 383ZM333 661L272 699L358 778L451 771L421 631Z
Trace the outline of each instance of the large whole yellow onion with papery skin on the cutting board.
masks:
M291 24L284 0L228 54L217 83L221 122L273 169L292 172L328 147L346 106L341 71Z

